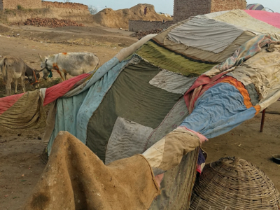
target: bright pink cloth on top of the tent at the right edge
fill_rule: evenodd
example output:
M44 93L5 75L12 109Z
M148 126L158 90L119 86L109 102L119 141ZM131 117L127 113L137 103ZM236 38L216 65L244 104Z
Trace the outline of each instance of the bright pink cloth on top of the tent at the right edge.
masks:
M276 28L280 29L280 14L279 13L270 13L263 10L244 10L248 15L251 15L257 20L273 25Z

